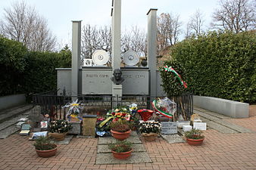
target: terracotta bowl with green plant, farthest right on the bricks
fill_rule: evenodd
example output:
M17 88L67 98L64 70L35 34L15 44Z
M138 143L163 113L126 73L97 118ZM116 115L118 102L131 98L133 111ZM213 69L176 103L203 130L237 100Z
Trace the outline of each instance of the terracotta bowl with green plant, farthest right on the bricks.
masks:
M190 145L200 145L204 141L204 135L199 129L193 128L191 131L185 132L186 142Z

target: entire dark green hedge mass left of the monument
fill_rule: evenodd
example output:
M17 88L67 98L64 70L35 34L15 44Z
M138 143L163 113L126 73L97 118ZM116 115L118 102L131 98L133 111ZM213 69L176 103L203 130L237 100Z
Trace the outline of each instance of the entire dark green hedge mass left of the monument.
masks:
M71 66L71 51L30 52L20 42L0 38L0 96L57 88L58 67Z

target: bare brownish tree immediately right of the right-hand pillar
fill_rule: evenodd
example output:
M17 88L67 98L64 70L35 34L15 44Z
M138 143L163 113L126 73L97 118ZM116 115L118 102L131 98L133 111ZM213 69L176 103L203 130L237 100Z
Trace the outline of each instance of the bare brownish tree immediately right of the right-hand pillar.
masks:
M169 45L178 42L182 23L179 15L162 13L158 17L158 53Z

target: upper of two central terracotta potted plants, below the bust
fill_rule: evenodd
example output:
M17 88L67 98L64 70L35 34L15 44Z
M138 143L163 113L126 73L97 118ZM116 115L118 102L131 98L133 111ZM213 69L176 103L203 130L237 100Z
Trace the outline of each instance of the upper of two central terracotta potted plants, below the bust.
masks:
M111 122L110 128L112 136L120 141L123 141L130 136L130 122L126 119L118 119L117 121Z

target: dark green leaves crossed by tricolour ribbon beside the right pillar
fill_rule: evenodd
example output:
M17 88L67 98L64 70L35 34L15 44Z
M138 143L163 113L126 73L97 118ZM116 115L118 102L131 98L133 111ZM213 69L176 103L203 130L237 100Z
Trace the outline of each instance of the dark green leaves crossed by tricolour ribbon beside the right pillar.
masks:
M186 71L183 66L176 60L169 60L164 63L164 66L171 66L176 73L180 74L184 82L186 82ZM180 83L180 80L172 72L166 72L164 68L161 68L160 75L162 78L163 86L167 97L180 96L186 90L184 86Z

